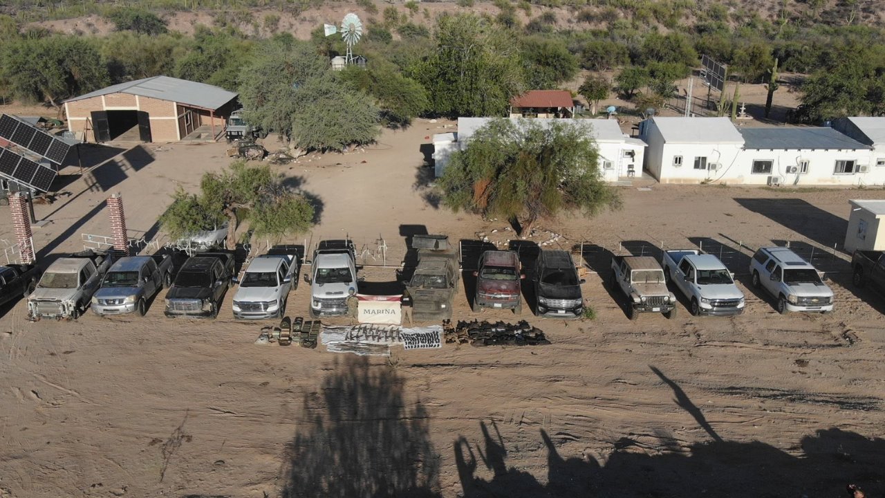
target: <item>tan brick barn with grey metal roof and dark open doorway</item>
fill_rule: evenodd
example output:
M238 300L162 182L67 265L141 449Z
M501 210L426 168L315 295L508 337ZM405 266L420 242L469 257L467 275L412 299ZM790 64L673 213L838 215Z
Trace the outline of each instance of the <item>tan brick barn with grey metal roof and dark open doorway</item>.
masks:
M176 142L200 130L214 139L224 133L236 97L205 83L154 76L66 100L65 113L68 129L84 142Z

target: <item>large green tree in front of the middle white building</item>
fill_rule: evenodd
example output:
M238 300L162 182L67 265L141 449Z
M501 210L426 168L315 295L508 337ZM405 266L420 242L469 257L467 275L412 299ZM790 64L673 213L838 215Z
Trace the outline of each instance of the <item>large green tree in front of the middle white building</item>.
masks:
M564 211L592 216L620 206L618 191L599 173L599 153L580 121L490 121L450 156L439 181L451 209L519 221L522 232L539 218Z

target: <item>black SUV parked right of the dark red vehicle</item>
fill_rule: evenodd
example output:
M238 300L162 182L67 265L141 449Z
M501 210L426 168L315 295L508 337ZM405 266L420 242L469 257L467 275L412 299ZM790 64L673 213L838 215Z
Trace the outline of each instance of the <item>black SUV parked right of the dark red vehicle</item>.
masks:
M541 251L535 266L535 315L581 316L584 311L583 283L571 254Z

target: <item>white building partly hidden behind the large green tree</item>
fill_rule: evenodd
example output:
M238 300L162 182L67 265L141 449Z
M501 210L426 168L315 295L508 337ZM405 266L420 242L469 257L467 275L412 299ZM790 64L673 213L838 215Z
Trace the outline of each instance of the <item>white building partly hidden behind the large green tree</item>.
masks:
M464 150L470 137L476 130L487 125L489 121L500 118L458 118L458 133L443 133L434 136L434 162L436 176L443 175L451 152ZM510 118L518 121L525 118ZM563 122L561 119L532 119L542 126L550 126L552 122ZM587 129L589 136L596 141L599 148L599 170L606 182L616 182L620 177L641 175L645 156L645 143L631 138L620 130L618 121L614 120L570 120L570 123Z

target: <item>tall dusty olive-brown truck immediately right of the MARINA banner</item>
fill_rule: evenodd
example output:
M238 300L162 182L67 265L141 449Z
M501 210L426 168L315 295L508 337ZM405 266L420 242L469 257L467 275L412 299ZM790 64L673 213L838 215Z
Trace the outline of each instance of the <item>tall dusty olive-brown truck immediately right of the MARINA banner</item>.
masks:
M419 322L451 320L458 292L458 252L444 235L416 235L418 265L405 291L412 296L412 319Z

